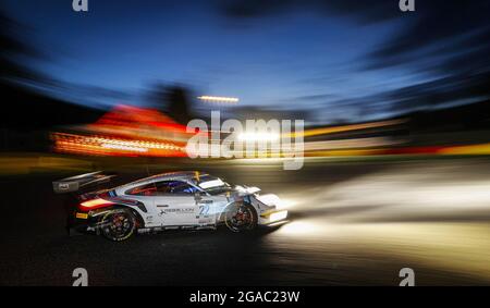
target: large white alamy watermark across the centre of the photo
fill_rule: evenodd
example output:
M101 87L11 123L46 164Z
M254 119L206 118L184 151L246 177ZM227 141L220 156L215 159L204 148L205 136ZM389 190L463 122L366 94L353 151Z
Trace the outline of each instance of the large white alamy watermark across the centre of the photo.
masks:
M219 111L211 112L211 127L204 120L187 123L186 152L194 158L278 158L284 170L298 170L304 161L304 120L228 119L221 123ZM224 137L224 138L223 138Z

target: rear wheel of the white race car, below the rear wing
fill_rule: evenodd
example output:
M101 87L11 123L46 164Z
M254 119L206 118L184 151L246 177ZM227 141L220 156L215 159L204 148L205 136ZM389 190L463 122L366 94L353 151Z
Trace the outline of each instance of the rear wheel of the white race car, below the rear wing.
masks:
M136 231L136 217L127 209L114 209L107 212L100 223L103 237L113 242L130 238Z

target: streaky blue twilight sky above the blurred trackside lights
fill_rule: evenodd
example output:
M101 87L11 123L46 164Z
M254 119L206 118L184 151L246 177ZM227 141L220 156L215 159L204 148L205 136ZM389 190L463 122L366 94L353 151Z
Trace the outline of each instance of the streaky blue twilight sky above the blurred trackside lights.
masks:
M144 104L156 82L183 83L196 95L238 97L244 106L348 119L363 115L350 108L357 98L431 78L409 65L366 69L369 54L411 22L397 2L381 8L396 19L369 22L316 7L241 16L219 0L88 0L85 13L72 11L72 0L4 7L46 56L30 65L70 85L56 94L77 103ZM108 94L86 90L93 87Z

